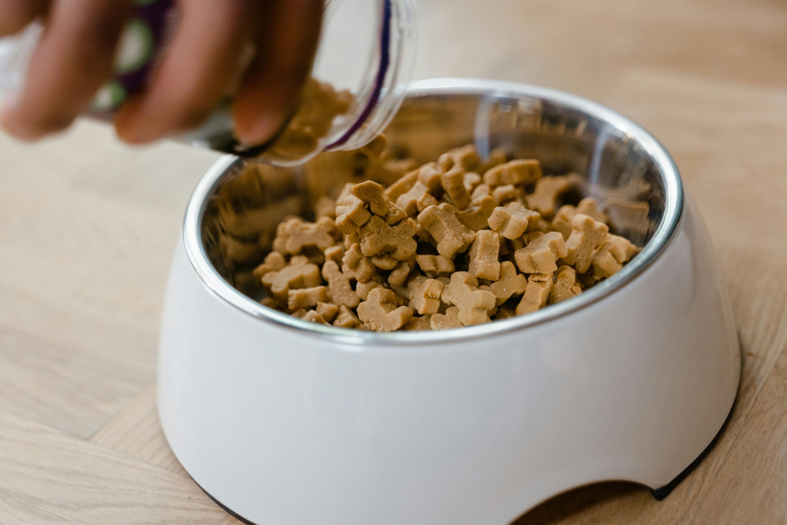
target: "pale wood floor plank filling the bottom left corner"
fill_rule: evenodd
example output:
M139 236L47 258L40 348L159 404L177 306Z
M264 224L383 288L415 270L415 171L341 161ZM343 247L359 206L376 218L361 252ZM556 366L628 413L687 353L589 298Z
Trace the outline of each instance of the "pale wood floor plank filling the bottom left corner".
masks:
M224 515L190 479L0 413L4 525L216 525Z

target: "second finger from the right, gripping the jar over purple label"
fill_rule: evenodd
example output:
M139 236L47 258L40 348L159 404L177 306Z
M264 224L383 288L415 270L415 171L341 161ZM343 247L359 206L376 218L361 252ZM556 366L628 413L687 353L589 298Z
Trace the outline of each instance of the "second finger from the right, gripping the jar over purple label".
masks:
M201 124L227 94L251 39L254 0L189 0L150 87L115 117L121 139L152 142Z

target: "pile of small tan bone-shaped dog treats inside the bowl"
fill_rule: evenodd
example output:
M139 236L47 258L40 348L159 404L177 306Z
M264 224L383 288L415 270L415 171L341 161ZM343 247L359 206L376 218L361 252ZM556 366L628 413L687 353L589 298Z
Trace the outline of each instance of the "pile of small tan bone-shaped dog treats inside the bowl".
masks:
M387 187L347 183L276 229L253 270L262 303L321 324L440 330L525 315L619 272L639 252L593 198L560 202L571 176L473 146ZM315 253L317 257L315 257Z

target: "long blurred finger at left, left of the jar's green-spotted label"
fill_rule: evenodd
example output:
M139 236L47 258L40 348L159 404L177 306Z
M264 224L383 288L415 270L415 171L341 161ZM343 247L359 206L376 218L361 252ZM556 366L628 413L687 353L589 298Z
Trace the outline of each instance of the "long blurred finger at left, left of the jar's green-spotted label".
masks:
M128 0L54 0L20 94L0 125L20 139L68 127L112 75Z

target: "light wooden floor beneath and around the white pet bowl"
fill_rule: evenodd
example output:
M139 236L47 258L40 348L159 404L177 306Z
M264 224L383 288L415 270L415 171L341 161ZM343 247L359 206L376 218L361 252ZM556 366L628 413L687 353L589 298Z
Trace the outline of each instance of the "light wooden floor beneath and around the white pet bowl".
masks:
M518 523L787 523L787 4L419 4L417 77L572 91L667 146L708 222L745 350L726 432L665 501L607 483ZM172 456L154 405L168 261L215 158L131 150L89 123L36 146L0 138L3 525L236 523Z

